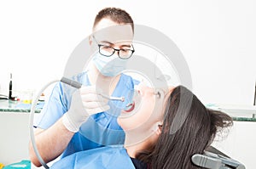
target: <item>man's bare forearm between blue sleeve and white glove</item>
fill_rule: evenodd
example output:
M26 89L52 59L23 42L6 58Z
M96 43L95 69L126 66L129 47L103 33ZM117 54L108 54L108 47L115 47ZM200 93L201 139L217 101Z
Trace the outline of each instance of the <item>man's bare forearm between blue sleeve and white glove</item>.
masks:
M35 140L37 143L38 151L45 163L53 161L56 157L61 155L67 144L73 138L74 132L69 132L62 123L62 117L52 127L46 130L36 129ZM42 166L38 161L32 143L29 144L29 155L32 163L35 166Z

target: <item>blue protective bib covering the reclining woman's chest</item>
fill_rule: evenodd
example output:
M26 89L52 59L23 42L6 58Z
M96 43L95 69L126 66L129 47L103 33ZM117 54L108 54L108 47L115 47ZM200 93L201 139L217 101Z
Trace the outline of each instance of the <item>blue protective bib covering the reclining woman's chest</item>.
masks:
M51 169L135 169L130 156L123 147L102 147L80 151L56 161Z

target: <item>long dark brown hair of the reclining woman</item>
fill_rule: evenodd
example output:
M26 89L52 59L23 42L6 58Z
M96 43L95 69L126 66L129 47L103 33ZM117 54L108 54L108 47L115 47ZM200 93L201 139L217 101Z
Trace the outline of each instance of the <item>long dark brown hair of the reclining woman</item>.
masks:
M160 138L137 153L137 159L150 168L200 168L192 164L191 156L202 154L216 133L232 124L229 115L207 109L186 87L178 86L167 100Z

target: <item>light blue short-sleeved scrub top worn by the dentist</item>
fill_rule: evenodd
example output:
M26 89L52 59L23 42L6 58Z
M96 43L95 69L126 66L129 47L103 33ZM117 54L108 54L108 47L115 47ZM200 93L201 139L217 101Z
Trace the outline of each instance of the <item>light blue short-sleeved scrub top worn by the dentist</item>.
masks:
M73 80L82 83L84 86L90 86L87 72L83 72L78 76L73 76ZM138 81L132 79L131 76L121 74L112 96L124 96L125 102L109 100L108 104L110 110L97 113L96 115L90 115L88 121L84 122L80 127L79 132L76 132L73 135L73 138L67 145L67 149L64 150L61 157L86 149L124 144L125 132L119 127L117 116L119 115L120 110L124 109L125 105L130 102L130 99L128 98L131 97L134 86L137 84ZM40 113L41 118L34 126L46 129L58 121L69 109L72 94L75 90L77 89L74 87L58 82L55 85L48 102L44 105L44 109Z

